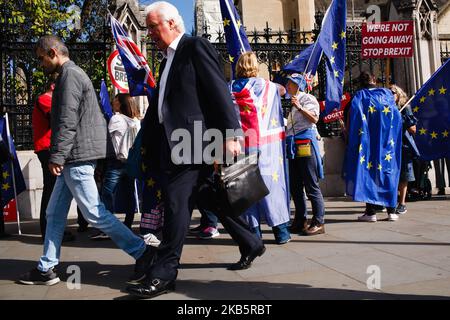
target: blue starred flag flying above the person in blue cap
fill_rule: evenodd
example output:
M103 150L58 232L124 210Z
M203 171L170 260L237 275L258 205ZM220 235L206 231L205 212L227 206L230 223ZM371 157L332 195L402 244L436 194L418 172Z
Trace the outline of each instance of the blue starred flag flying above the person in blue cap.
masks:
M283 68L286 73L304 73L307 82L311 82L322 55L326 57L325 115L341 106L345 77L346 30L347 2L333 0L325 13L317 41Z

